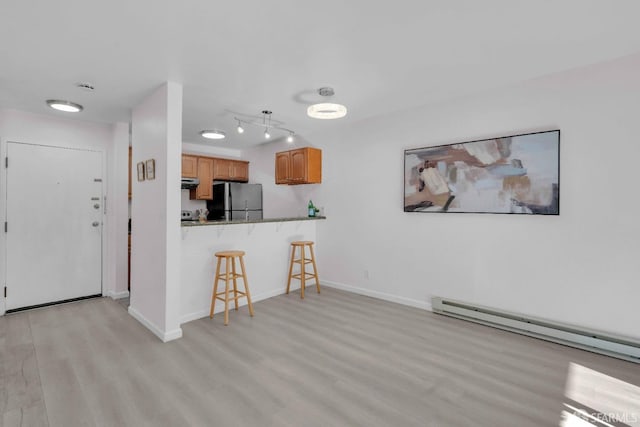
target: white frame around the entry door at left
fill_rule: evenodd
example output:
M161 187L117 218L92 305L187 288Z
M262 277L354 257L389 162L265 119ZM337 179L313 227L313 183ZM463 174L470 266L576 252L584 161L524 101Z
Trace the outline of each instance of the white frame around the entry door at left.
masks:
M7 170L5 166L5 159L7 158L7 144L9 142L14 142L18 144L30 144L30 145L40 145L46 147L56 147L56 148L67 148L72 150L88 150L88 151L97 151L102 154L102 188L103 188L103 201L102 201L102 273L101 273L101 281L102 281L102 295L105 295L107 284L107 240L109 235L109 224L107 223L107 215L105 214L107 210L107 153L105 150L91 147L91 146L78 146L73 144L56 144L55 142L51 143L41 143L41 142L29 142L25 140L16 140L16 139L3 139L0 138L0 316L6 313L6 305L7 299L4 297L4 287L7 283L7 235L4 232L4 223L7 221Z

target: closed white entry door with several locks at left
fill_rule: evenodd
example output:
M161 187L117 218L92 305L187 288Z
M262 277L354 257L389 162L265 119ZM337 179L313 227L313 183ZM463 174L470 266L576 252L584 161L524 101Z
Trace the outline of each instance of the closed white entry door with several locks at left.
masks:
M6 309L102 292L102 153L7 143Z

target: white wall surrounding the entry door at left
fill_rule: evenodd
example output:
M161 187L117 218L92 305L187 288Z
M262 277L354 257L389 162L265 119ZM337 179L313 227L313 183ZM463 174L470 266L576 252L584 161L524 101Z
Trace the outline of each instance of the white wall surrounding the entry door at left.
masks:
M42 144L56 147L84 148L101 151L103 153L103 191L109 192L111 182L115 182L114 170L109 167L107 158L110 147L117 139L114 126L108 124L85 122L81 120L69 119L57 115L43 115L27 113L23 111L4 109L0 110L0 157L6 155L6 143L8 141L24 142L30 144ZM6 200L6 183L4 182L4 167L0 173L0 200L4 206ZM34 193L37 197L37 192ZM6 209L0 209L2 222L5 221ZM125 212L126 215L126 212ZM109 215L107 215L108 217ZM116 225L117 226L117 225ZM117 244L114 234L114 222L105 221L103 228L103 266L109 266L113 260L110 257L108 248ZM0 234L0 272L4 279L5 266L2 264L5 257L5 237ZM123 242L126 250L126 240ZM108 268L103 268L102 290L104 294L109 294L115 287L115 276L110 275ZM0 296L0 298L3 298ZM4 313L4 302L0 304L0 314Z

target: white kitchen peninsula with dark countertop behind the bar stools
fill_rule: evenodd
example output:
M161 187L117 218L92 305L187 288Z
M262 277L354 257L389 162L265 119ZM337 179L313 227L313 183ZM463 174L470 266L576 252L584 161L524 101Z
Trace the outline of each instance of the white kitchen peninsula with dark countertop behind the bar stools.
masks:
M291 242L317 241L317 221L324 219L325 217L292 217L249 221L183 221L181 322L209 315L215 252L246 252L249 290L252 301L257 302L285 292ZM246 304L246 300L241 300L240 304ZM221 306L216 308L216 312L222 310ZM256 316L259 315L257 311Z

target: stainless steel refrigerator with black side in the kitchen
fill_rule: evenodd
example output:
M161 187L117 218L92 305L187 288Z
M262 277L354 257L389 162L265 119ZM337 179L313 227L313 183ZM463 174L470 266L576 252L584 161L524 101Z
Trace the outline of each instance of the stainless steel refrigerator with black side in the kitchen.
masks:
M209 221L262 219L262 184L215 183L207 210Z

